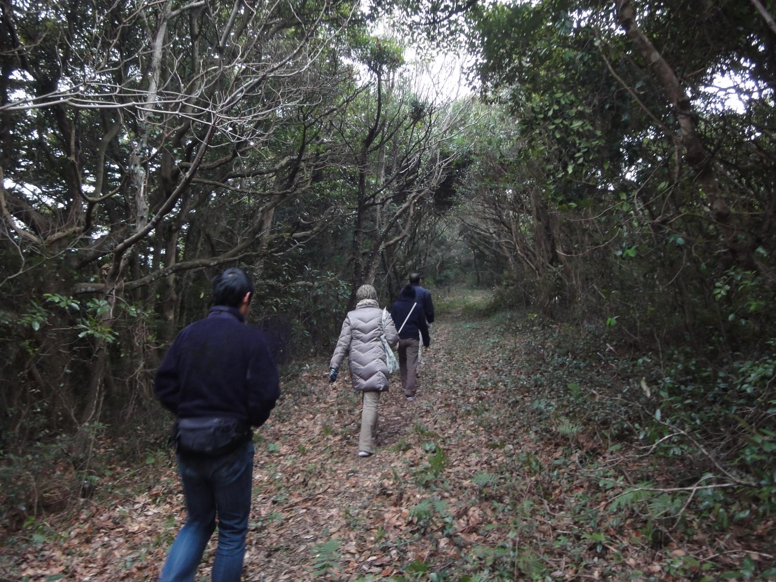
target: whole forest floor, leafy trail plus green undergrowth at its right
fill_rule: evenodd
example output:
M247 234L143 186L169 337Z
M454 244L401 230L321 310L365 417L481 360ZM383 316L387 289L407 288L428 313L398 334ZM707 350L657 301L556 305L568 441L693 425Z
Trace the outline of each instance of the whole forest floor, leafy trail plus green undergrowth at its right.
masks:
M325 357L286 370L256 436L245 580L776 577L767 353L709 376L490 293L435 302L419 398L384 395L370 459ZM91 497L7 530L0 579L155 578L182 496L168 449L132 451L133 436L95 440ZM57 470L29 475L42 487Z

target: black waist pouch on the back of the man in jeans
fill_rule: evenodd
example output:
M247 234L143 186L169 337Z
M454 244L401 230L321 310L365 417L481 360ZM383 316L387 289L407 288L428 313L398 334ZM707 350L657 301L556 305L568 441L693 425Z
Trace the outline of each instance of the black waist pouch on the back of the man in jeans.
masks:
M237 418L181 418L175 427L178 452L190 455L226 455L250 438L250 426Z

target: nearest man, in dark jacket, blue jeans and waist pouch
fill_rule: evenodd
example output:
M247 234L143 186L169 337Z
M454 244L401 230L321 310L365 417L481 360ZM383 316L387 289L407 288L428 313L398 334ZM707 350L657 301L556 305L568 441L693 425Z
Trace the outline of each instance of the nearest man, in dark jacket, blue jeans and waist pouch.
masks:
M280 396L278 371L261 331L244 323L253 286L239 268L213 279L210 314L185 327L154 381L178 417L178 468L188 518L172 544L161 582L193 580L218 516L213 582L238 582L251 511L251 426Z

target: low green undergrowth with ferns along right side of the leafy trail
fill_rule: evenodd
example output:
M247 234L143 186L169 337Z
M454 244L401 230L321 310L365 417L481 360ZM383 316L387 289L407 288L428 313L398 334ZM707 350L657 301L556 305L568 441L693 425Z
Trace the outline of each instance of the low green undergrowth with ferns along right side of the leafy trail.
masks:
M496 300L482 312L504 337L521 338L515 358L525 367L511 380L532 393L526 420L567 441L580 475L598 480L595 507L582 513L595 516L584 535L598 532L599 551L633 549L639 540L656 554L670 550L663 575L776 576L774 341L708 362L682 348L639 352L605 326L547 324L505 309ZM604 542L626 525L639 525L636 538ZM763 553L727 561L725 551L699 559L682 549L726 536L743 536Z

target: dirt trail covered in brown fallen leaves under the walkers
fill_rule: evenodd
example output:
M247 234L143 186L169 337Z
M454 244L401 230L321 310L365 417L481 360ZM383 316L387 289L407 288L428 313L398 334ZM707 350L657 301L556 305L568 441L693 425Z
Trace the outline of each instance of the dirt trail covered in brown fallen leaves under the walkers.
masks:
M487 331L454 310L438 317L431 338L416 400L404 399L397 376L381 397L369 458L356 454L360 402L347 374L328 383L326 357L284 381L279 407L257 431L244 580L385 578L439 553L456 561L459 546L481 539L483 517L466 496L493 451L461 411L486 400L469 382L489 365ZM0 580L155 580L185 508L171 452L146 462L112 469L130 494L117 487L108 500L82 500L69 527L52 521L23 554L0 556ZM210 580L214 547L215 535L196 580Z

